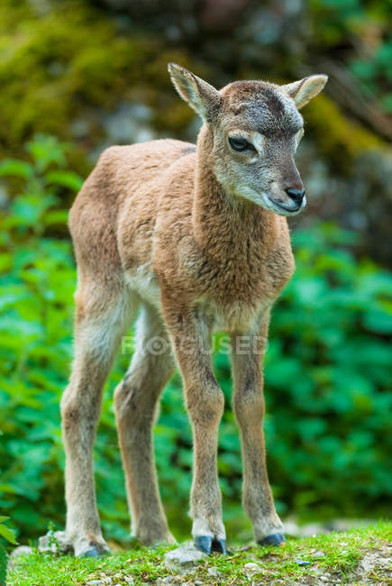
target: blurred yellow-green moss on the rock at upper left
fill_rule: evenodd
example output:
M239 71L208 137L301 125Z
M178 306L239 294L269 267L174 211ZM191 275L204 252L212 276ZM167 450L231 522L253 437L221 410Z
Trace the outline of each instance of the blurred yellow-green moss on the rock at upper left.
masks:
M36 16L25 1L17 10L10 1L0 9L0 155L20 154L37 132L69 140L79 116L92 128L83 142L87 151L102 138L99 113L132 99L138 89L158 106L158 120L166 121L158 125L177 130L187 124L185 105L168 115L178 99L166 64L187 65L182 52L164 50L146 36L120 34L104 13L82 3L53 4Z

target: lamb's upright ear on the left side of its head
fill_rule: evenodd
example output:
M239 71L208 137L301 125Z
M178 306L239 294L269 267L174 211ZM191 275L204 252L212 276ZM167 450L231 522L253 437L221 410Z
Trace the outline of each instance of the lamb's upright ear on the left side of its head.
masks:
M222 103L222 97L218 90L177 63L169 63L168 70L171 81L182 99L205 122L212 122Z

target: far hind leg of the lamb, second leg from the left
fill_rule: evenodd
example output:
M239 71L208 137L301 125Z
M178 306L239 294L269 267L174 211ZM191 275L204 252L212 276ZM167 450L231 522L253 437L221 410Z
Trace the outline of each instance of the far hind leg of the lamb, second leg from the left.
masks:
M152 428L160 393L174 371L169 335L157 311L142 308L136 326L136 349L114 393L132 536L143 544L174 541L160 501Z

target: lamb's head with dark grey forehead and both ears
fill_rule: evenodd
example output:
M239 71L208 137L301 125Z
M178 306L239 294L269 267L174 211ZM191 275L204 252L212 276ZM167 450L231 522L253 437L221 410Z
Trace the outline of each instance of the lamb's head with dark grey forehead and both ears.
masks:
M214 173L225 191L279 215L298 214L306 204L294 162L304 134L298 110L323 89L327 76L286 86L235 81L218 91L174 63L169 73L179 95L213 133Z

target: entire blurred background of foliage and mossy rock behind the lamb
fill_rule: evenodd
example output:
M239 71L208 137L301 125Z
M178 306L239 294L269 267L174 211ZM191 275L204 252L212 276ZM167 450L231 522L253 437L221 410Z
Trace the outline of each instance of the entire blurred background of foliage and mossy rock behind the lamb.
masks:
M3 0L0 5L0 509L19 541L64 526L59 399L72 359L76 271L68 208L110 144L199 122L169 82L177 61L217 87L327 73L297 155L309 205L291 222L296 275L265 361L269 476L282 517L387 515L392 481L392 5L387 0ZM389 267L389 268L388 268ZM96 488L105 536L129 517L105 389ZM251 536L227 357L219 472L229 537ZM178 375L155 435L160 490L188 535L192 443ZM389 445L388 445L389 442Z

